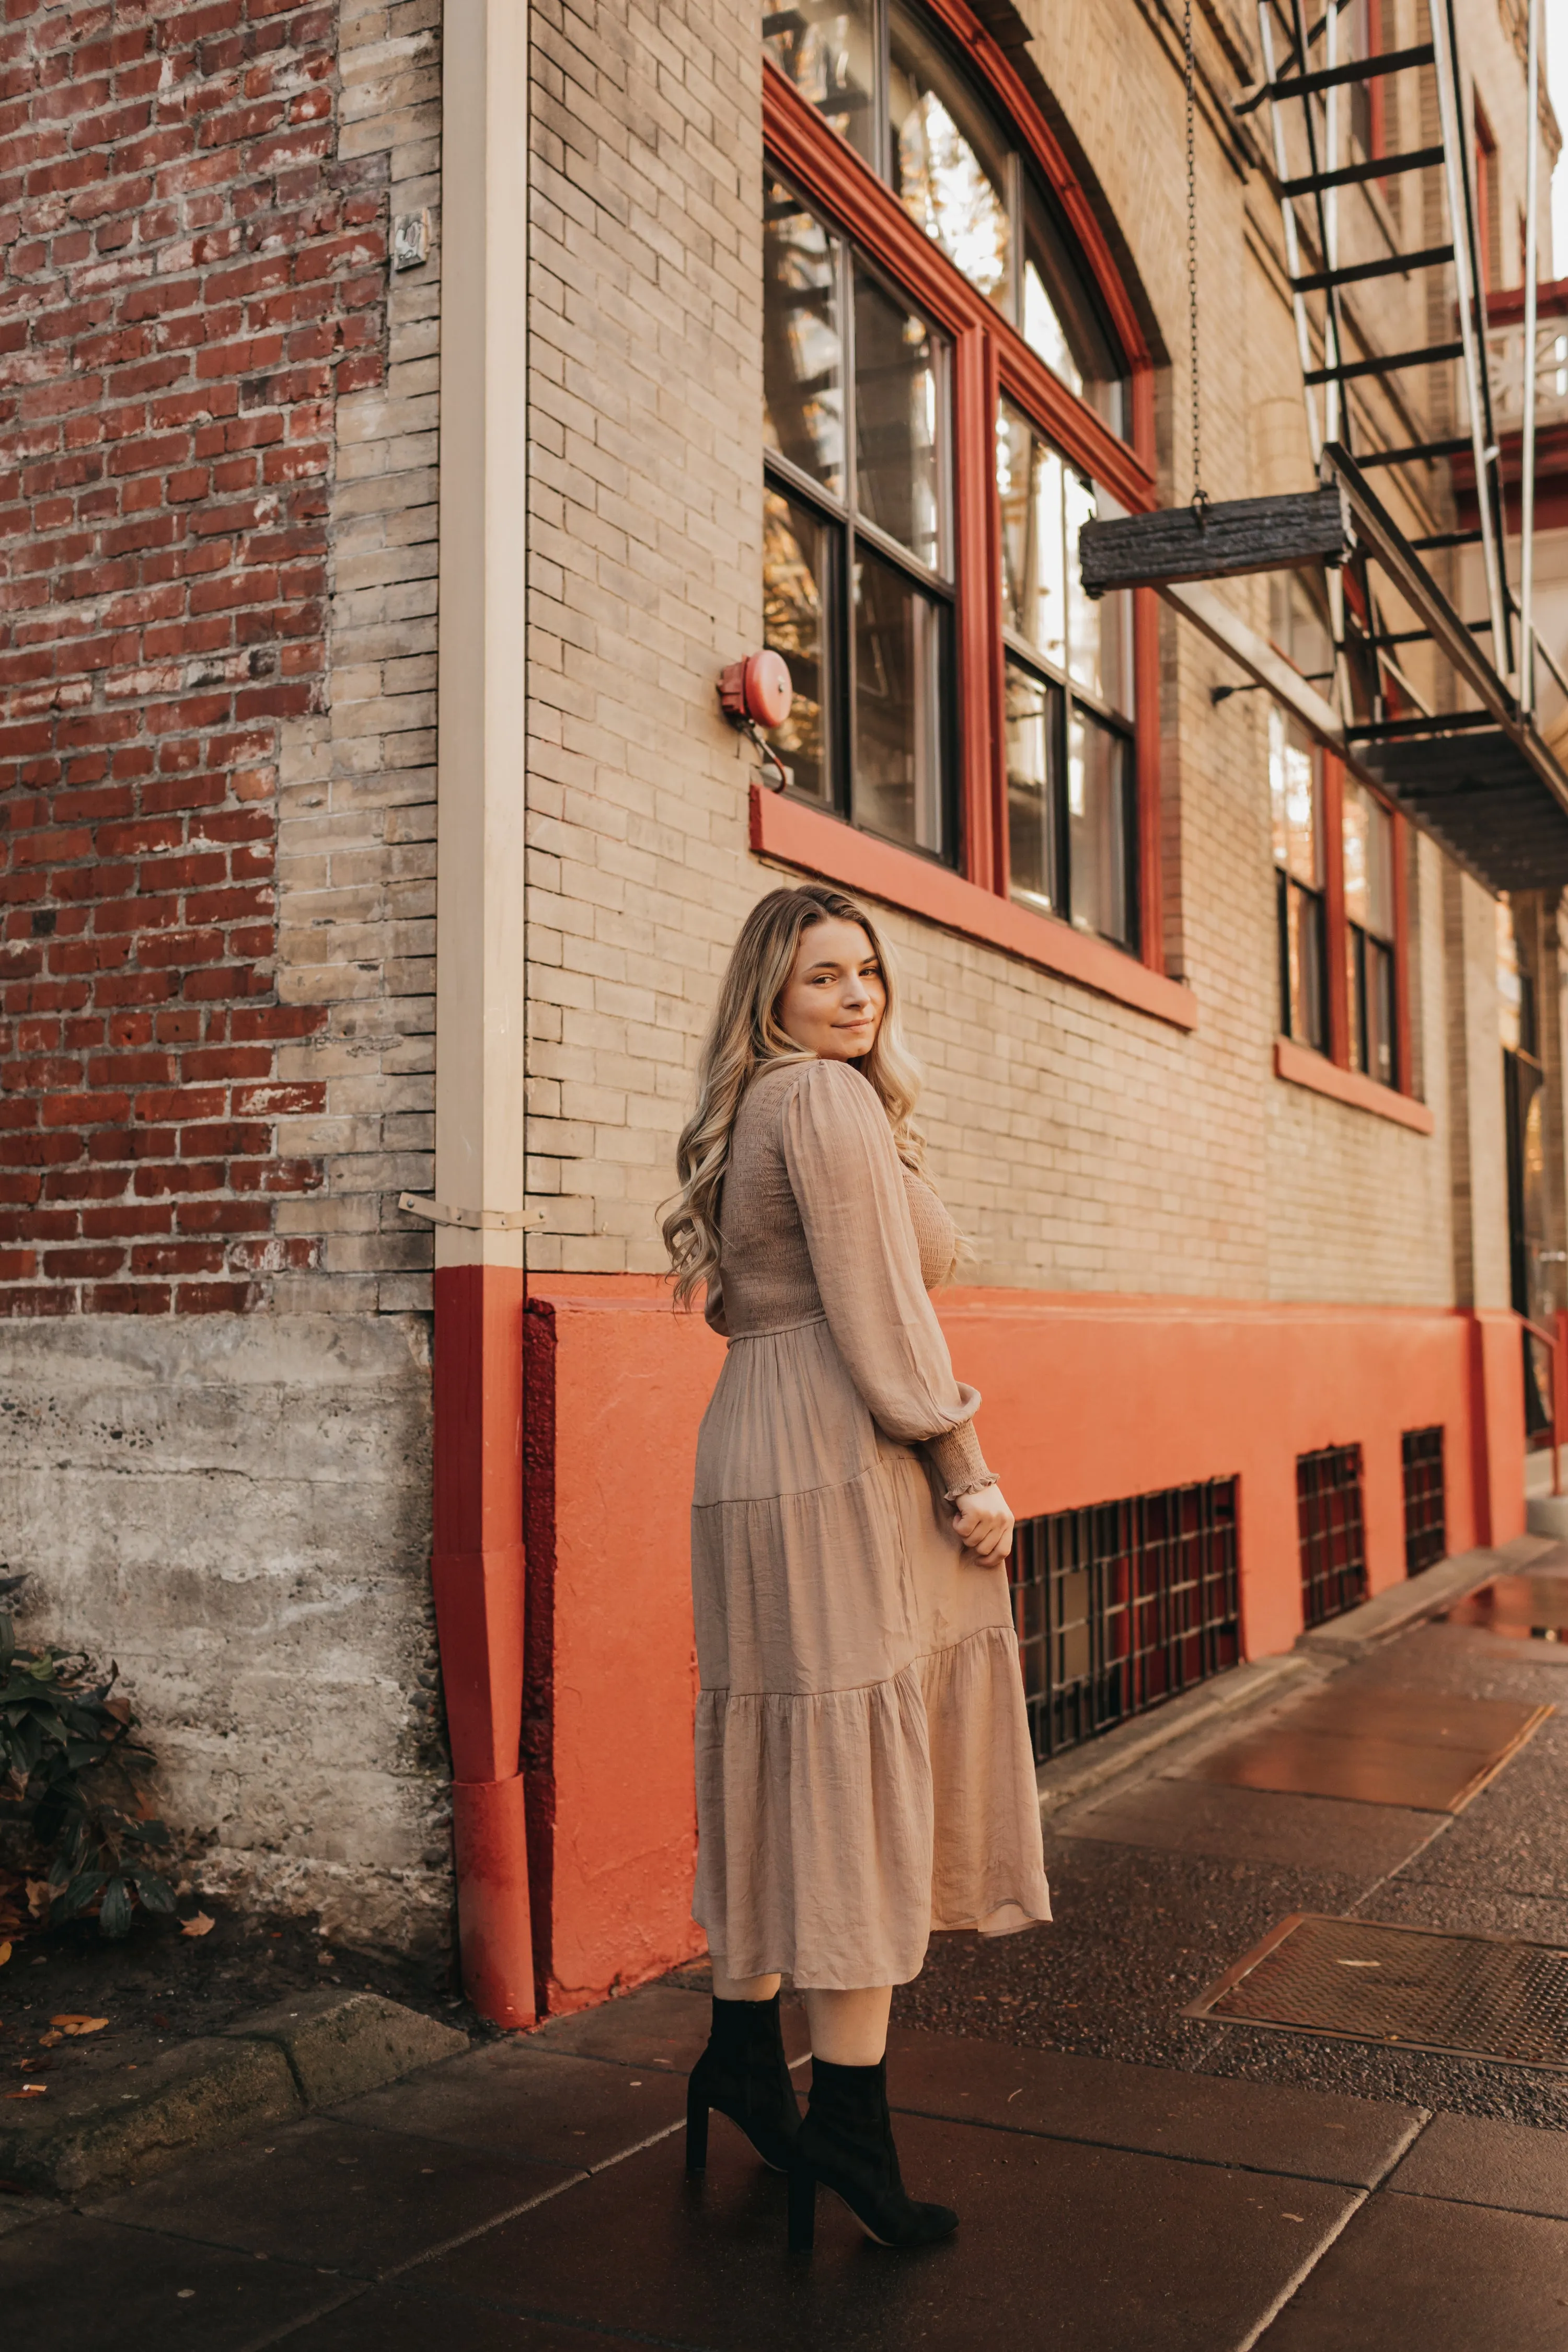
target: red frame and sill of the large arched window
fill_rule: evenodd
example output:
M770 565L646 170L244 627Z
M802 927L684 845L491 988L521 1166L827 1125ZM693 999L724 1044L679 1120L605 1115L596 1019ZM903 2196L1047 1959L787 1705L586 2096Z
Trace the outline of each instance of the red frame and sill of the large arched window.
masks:
M1001 506L994 416L1006 393L1056 447L1128 513L1157 503L1154 360L1100 226L1067 158L1039 120L1013 66L964 0L926 0L971 71L990 87L1018 146L1053 191L1079 259L1095 282L1128 367L1128 437L1121 440L1039 360L954 263L924 235L893 191L778 73L762 66L766 160L879 263L952 339L957 708L961 870L858 833L839 816L752 786L752 849L825 873L917 915L985 938L1048 971L1081 981L1192 1028L1192 993L1164 971L1159 818L1159 616L1152 590L1133 590L1133 776L1138 804L1138 955L1009 896L1001 642Z

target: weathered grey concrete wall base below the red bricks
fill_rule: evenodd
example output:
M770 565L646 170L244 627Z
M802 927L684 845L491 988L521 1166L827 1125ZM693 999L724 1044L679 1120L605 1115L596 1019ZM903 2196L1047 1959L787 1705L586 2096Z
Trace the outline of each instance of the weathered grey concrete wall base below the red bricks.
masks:
M120 1663L200 1884L397 1945L451 1893L428 1454L423 1317L0 1322L26 1632Z

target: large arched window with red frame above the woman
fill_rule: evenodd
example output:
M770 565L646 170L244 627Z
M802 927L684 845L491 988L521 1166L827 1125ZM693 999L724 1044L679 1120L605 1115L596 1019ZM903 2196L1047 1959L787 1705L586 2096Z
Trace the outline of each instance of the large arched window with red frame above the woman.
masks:
M764 5L762 38L790 797L1154 962L1150 600L1077 567L1152 503L1131 303L964 0Z

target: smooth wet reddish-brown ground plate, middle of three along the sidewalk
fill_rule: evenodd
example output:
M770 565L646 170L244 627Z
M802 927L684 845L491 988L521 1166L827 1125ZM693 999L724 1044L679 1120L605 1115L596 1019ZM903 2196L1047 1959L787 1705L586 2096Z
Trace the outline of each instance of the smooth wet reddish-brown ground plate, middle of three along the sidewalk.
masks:
M1429 1691L1326 1691L1197 1757L1190 1780L1462 1813L1552 1708Z

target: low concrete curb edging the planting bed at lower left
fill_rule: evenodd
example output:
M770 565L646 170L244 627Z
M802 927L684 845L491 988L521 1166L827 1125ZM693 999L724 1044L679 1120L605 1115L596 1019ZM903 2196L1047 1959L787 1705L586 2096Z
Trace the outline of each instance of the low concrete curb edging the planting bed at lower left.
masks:
M301 1992L219 2034L134 2063L103 2063L59 2098L19 2100L0 2119L0 2178L75 2197L176 2164L193 2147L289 2124L400 2074L454 2058L468 2034L374 1992ZM96 2053L94 2053L96 2056Z

